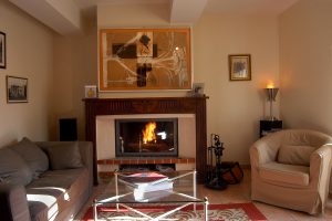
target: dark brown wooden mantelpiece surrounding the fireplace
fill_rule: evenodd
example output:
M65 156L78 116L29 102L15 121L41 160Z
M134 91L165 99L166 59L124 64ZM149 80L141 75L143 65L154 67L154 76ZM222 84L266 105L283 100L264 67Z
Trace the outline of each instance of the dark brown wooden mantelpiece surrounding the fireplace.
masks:
M108 134L103 137L106 141L110 143L106 145L105 149L96 148L96 138L100 135L100 130L96 127L108 125L107 120L96 120L96 118L101 118L104 116L116 116L120 115L141 115L141 114L149 114L149 115L164 115L164 114L193 114L195 117L195 125L191 128L195 130L195 138L193 141L195 143L191 145L191 149L189 149L188 154L194 154L196 156L195 165L197 170L197 180L199 183L204 183L206 180L206 160L207 160L207 136L206 136L206 99L207 96L201 97L137 97L137 98L85 98L85 135L86 140L93 141L93 172L94 172L94 183L98 183L98 167L100 160L97 156L102 156L102 162L106 165L108 162L120 162L120 164L127 164L126 161L135 161L133 159L112 159L115 156L108 156L106 150L111 149L108 144L113 140L112 144L115 145L115 133L112 131L110 136L110 129L106 130ZM178 118L180 120L180 118ZM179 128L180 129L180 128ZM186 134L186 131L179 130L180 134ZM187 136L184 136L187 137ZM102 141L105 141L102 140ZM178 140L180 143L180 139ZM113 145L113 146L114 146ZM115 148L115 147L114 147ZM179 156L183 154L179 149ZM115 155L115 151L113 151ZM183 156L188 156L188 154L184 154ZM107 158L111 158L107 160ZM184 159L178 159L183 161ZM137 161L137 159L136 159ZM164 164L165 159L149 159L146 158L146 162L151 164L158 164L156 161L160 161ZM172 161L172 159L170 159ZM135 162L138 164L138 162ZM173 162L170 162L173 164Z

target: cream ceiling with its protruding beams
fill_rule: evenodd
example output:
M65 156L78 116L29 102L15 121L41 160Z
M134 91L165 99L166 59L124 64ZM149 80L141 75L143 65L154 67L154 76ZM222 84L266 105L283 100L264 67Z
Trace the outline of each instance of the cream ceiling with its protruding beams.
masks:
M82 31L81 15L93 18L97 4L164 4L169 23L193 24L203 12L277 17L299 0L9 0L60 34Z

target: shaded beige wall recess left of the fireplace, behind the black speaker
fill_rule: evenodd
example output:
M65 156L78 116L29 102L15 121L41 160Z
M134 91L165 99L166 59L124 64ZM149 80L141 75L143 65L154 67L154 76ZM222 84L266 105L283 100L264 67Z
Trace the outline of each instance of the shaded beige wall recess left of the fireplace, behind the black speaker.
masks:
M54 38L54 76L50 104L51 139L59 139L59 119L77 119L79 139L84 139L84 85L97 83L96 27L82 35Z

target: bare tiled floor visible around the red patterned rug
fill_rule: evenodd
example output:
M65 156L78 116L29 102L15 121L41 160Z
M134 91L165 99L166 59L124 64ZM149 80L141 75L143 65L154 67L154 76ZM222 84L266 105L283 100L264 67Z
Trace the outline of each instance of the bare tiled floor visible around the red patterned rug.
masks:
M94 196L103 191L104 186L100 185L94 187ZM249 202L250 201L250 170L245 169L245 178L241 183L228 186L226 190L211 190L200 185L198 187L200 196L206 196L209 203L237 203L237 202ZM86 209L91 206L92 199L82 209L75 220L85 213ZM332 221L332 197L329 198L323 215L309 215L303 212L297 212L293 210L282 209L260 202L253 202L256 207L268 218L270 221Z

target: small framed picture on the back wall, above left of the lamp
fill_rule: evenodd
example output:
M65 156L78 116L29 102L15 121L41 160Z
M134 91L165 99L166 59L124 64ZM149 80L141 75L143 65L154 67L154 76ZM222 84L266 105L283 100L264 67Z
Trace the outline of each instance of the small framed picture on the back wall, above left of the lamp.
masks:
M229 80L250 81L251 80L251 59L250 54L228 55Z

